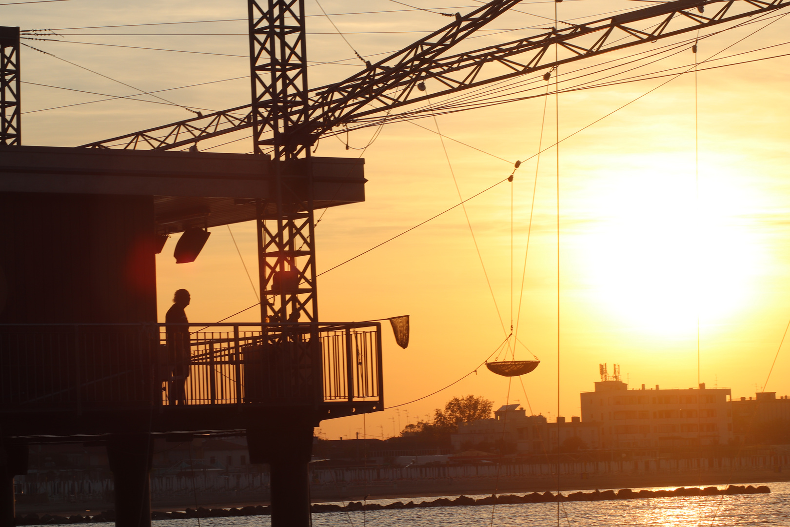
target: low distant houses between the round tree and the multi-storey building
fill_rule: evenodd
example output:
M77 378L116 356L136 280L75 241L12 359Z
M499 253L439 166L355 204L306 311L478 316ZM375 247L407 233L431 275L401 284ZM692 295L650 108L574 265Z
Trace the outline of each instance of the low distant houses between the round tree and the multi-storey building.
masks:
M559 442L557 435L559 433ZM479 450L515 447L515 454L544 454L557 450L594 449L599 447L598 427L571 417L570 423L558 417L548 423L544 416L527 416L519 405L503 405L493 419L461 423L452 435L453 450Z

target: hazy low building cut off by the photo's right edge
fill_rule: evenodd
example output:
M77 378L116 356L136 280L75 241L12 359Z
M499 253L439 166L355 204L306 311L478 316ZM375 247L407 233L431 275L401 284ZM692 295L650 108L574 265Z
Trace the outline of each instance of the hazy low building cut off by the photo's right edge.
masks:
M755 393L754 398L733 400L732 431L735 441L746 445L790 443L790 399L776 392Z

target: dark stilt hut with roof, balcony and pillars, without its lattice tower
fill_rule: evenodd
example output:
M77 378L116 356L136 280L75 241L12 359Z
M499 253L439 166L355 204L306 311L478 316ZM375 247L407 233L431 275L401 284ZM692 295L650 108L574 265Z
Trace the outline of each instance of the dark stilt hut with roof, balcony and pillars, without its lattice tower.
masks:
M152 436L227 431L246 432L250 461L271 465L276 525L307 525L313 427L382 408L380 326L270 312L264 324L193 324L168 342L168 324L156 323L156 235L276 215L272 161L26 146L0 156L2 525L13 525L28 443L105 444L117 523L137 527L150 522ZM310 161L325 174L316 201L363 199L359 160ZM291 251L276 258L310 257ZM265 295L303 295L289 272ZM186 349L171 358L174 341Z

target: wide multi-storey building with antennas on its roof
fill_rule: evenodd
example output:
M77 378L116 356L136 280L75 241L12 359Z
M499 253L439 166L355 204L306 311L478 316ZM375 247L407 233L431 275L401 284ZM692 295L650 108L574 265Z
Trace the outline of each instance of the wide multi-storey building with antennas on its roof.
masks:
M595 423L603 448L725 445L732 441L730 390L698 388L628 390L602 366L594 392L581 393L581 417ZM615 370L617 371L617 370Z

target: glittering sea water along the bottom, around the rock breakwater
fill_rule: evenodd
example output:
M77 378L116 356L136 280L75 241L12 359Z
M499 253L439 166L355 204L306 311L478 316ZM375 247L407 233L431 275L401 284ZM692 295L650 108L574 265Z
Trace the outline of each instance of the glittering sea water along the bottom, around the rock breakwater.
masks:
M741 485L741 483L733 483ZM747 483L748 484L748 483ZM601 502L523 503L427 507L423 509L368 510L313 514L314 527L790 527L790 483L767 485L770 494L718 495L626 499ZM746 484L743 484L746 485ZM721 486L720 486L721 487ZM675 487L645 487L652 491ZM604 491L606 489L600 489ZM616 490L616 489L615 489ZM641 490L638 488L635 491ZM567 492L564 494L568 494ZM455 496L450 496L453 499ZM472 498L483 498L472 495ZM414 499L371 499L369 503L430 501L436 496ZM343 505L343 503L338 503ZM198 527L198 519L162 520L156 527ZM201 518L200 527L265 527L269 516Z

